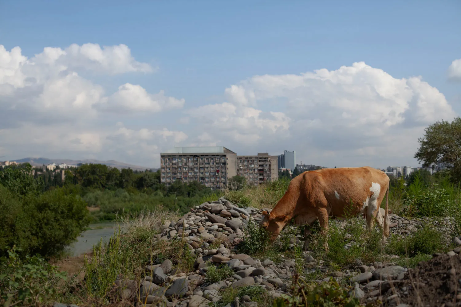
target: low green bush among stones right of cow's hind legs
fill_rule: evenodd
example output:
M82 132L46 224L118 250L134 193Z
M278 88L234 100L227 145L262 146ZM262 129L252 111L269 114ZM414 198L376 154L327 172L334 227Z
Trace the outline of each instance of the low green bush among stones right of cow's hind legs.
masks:
M386 251L407 257L415 257L420 254L432 254L445 248L443 236L437 230L429 226L423 227L410 236L392 236L386 246Z

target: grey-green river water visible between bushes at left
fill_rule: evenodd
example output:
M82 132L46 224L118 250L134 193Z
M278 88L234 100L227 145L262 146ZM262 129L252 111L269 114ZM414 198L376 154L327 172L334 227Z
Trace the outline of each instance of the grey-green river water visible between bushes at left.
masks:
M98 243L101 238L102 241L107 242L114 234L114 229L117 226L114 222L104 222L97 224L90 224L89 230L86 230L77 237L77 242L72 243L67 247L66 251L71 257L82 255L93 249L93 245Z

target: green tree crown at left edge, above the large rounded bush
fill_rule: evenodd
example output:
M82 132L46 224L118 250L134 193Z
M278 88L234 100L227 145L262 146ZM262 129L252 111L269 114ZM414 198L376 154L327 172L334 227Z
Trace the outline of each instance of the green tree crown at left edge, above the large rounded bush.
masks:
M6 187L13 194L38 195L43 189L43 181L33 177L33 169L29 163L20 166L0 168L0 185Z

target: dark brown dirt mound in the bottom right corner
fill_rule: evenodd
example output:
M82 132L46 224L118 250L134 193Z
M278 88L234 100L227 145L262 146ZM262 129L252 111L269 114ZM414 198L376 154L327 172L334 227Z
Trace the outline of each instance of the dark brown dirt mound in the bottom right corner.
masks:
M389 305L404 303L409 306L461 306L461 254L436 255L430 261L420 262L413 270L408 270L389 295ZM400 296L398 299L396 296ZM459 294L458 294L459 293ZM390 297L388 296L388 299Z

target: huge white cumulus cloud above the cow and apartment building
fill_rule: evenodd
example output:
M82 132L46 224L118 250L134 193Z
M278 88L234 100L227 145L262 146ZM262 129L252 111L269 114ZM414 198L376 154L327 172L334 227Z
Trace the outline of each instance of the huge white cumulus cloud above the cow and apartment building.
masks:
M397 79L363 62L257 75L225 94L227 103L187 111L207 119L201 127L211 128L208 139L225 139L245 154L254 151L250 146L273 154L295 148L309 163L376 164L406 156L414 164L424 127L455 116L444 95L421 77Z

